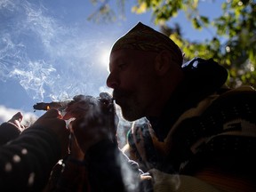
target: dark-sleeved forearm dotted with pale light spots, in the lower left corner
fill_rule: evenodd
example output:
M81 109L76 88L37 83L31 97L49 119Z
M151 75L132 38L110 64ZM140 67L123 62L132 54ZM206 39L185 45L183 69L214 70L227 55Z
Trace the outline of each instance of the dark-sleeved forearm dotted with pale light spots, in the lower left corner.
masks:
M59 159L57 136L44 128L28 128L18 139L0 148L0 188L42 190Z

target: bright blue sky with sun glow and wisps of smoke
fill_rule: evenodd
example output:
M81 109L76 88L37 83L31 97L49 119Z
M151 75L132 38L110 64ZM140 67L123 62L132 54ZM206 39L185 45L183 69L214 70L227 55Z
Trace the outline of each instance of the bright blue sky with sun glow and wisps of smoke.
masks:
M36 102L107 91L111 45L138 21L156 28L149 13L131 13L135 2L125 20L97 24L86 20L97 8L88 0L0 0L0 123L16 111L40 116ZM220 12L217 2L202 1L202 12ZM189 39L212 36L195 33L183 15L174 22Z

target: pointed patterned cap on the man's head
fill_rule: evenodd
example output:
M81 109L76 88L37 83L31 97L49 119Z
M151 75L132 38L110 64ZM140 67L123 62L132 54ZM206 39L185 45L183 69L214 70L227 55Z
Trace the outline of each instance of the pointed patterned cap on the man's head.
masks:
M173 60L176 60L180 66L183 63L182 52L171 38L153 28L149 28L141 22L119 38L113 45L111 52L119 49L133 49L145 52L161 52L167 50L172 52L172 55L175 56Z

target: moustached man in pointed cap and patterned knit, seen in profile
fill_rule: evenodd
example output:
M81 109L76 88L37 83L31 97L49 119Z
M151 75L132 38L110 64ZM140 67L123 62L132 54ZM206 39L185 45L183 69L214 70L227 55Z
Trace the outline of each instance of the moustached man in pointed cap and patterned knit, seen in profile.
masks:
M183 63L177 44L140 22L116 41L109 61L107 85L124 118L134 121L123 151L142 172L150 173L154 191L255 191L252 87L226 87L228 72L212 59ZM89 174L100 178L97 187L104 191L106 183L108 189L120 183L131 186L136 177L127 182L125 171L130 169L123 172L124 161L118 164L116 153L108 154L117 151L111 142L113 129L109 136L100 116L88 124L84 115L86 123L77 118L72 127ZM115 180L107 182L113 175Z

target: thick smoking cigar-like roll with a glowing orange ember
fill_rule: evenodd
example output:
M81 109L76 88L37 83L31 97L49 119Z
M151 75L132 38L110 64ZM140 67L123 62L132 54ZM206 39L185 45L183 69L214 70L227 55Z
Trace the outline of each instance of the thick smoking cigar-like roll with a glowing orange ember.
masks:
M56 108L58 110L64 110L65 108L68 107L68 103L70 103L71 100L65 100L65 101L59 101L59 102L55 102L55 101L52 101L52 102L49 102L49 103L46 103L46 102L39 102L39 103L36 103L33 108L35 110L49 110L50 108Z

